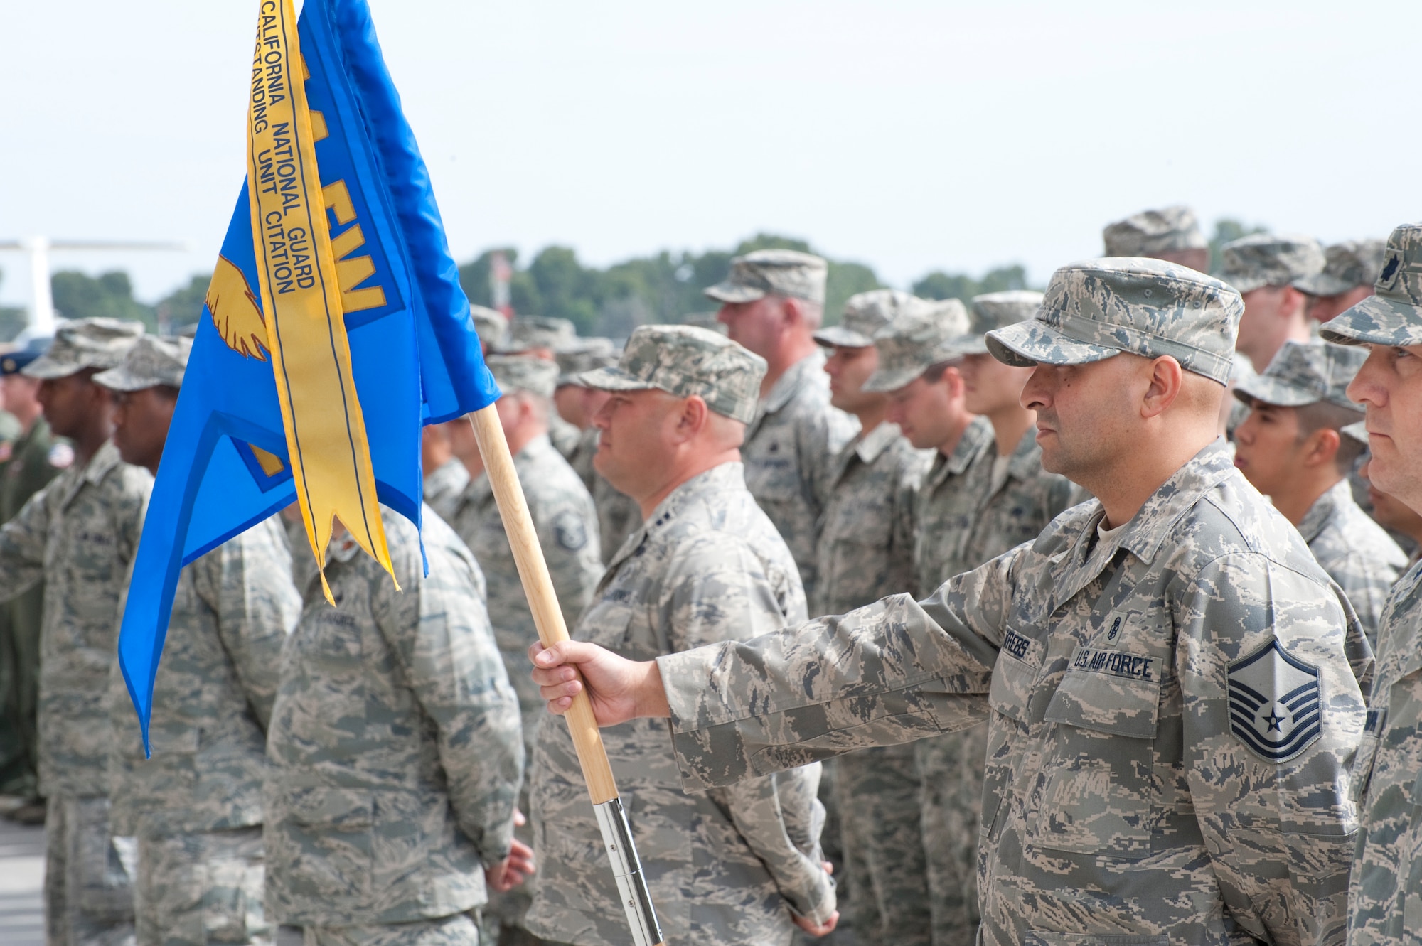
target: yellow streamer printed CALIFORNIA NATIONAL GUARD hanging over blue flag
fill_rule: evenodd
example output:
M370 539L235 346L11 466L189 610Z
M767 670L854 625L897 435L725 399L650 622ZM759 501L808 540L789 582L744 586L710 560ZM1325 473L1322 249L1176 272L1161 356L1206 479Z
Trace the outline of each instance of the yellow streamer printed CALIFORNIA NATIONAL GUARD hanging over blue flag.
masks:
M392 578L394 568L356 398L304 74L292 0L262 0L247 114L252 241L296 499L331 601L324 562L333 518Z

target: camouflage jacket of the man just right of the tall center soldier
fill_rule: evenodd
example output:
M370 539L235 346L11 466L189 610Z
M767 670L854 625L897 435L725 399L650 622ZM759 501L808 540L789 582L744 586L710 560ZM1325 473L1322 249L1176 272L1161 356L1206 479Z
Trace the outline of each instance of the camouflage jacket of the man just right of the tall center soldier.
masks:
M812 615L913 591L913 500L930 459L889 422L839 452L819 521Z

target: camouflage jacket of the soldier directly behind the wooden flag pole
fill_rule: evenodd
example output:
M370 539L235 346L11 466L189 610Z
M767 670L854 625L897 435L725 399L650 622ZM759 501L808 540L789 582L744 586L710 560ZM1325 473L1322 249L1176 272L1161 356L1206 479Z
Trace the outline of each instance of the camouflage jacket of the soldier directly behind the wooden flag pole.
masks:
M535 437L519 450L513 457L513 469L523 484L523 497L533 517L539 545L543 547L563 621L572 628L603 574L593 497L546 436ZM493 639L499 643L509 680L519 695L523 739L532 751L533 734L545 714L543 699L529 678L528 649L538 641L538 628L533 625L533 612L529 611L488 476L476 476L469 482L449 524L469 544L469 551L488 581Z

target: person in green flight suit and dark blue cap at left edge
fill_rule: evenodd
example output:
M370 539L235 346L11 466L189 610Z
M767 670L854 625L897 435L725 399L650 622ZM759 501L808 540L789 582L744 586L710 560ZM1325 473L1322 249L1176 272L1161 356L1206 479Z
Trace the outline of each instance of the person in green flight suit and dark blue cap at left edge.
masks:
M31 342L0 358L0 389L6 413L16 419L18 436L10 443L9 459L0 462L0 524L14 518L31 496L74 463L74 449L50 433L40 406L40 379L21 374L43 354ZM9 668L3 712L14 727L14 754L0 773L0 794L17 795L26 804L7 817L21 824L44 824L40 797L40 733L36 714L40 705L40 626L44 615L44 582L0 604L0 662Z

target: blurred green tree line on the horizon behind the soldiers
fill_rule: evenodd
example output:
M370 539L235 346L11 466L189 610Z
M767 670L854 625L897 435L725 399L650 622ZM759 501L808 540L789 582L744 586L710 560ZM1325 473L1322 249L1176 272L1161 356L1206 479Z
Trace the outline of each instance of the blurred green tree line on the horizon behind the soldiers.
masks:
M1216 222L1210 240L1212 259L1219 267L1219 249L1224 243L1261 227L1247 227L1239 220ZM673 253L636 257L614 263L607 268L584 266L577 254L563 246L539 250L520 264L518 250L491 249L459 267L459 284L469 301L491 303L489 260L502 251L513 267L510 283L516 312L525 315L555 315L567 318L583 335L626 338L637 325L647 322L680 322L688 315L715 308L701 290L712 286L731 270L731 257L751 250L785 249L815 253L805 240L759 233L728 250L705 253ZM823 256L823 254L820 254ZM829 259L829 257L826 257ZM88 276L63 270L51 277L54 308L64 318L107 315L144 322L149 330L176 331L198 321L209 274L193 276L154 304L134 298L134 287L124 271ZM863 263L829 259L829 281L825 300L825 321L835 324L845 301L855 293L883 287L875 270ZM981 276L934 270L909 287L924 298L961 298L967 301L980 293L1030 288L1027 271L1020 264L1000 266ZM24 311L0 307L0 341L9 341L24 327Z

